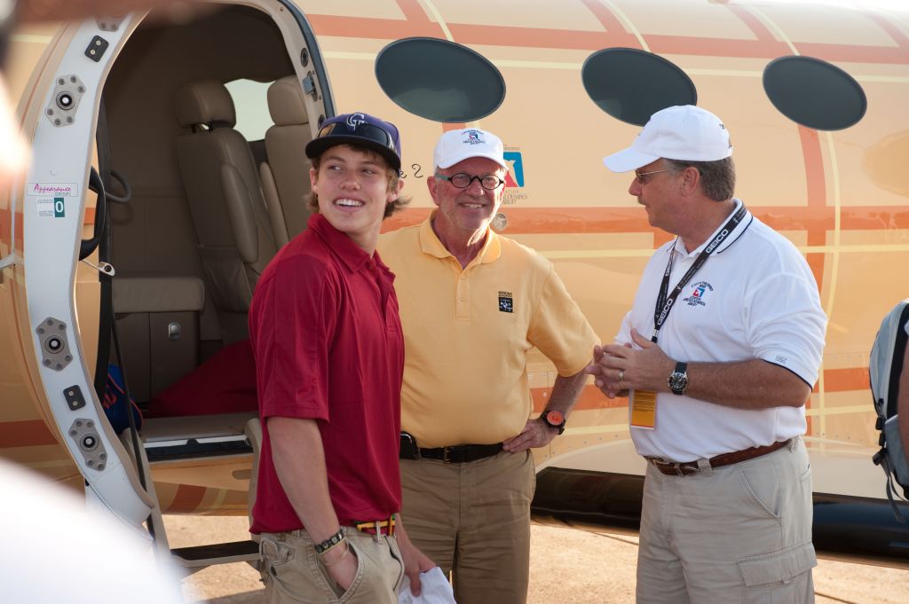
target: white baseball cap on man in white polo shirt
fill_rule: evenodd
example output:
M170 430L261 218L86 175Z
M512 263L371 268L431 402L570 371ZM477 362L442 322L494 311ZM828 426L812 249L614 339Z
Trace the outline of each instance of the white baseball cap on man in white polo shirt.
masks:
M733 154L729 131L720 118L691 104L667 107L651 115L627 149L603 158L613 172L629 172L665 159L715 162Z

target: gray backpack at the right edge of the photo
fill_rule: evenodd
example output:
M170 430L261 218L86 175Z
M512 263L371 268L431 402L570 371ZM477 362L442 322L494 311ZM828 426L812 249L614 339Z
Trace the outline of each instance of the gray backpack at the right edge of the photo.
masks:
M909 323L909 299L899 302L887 313L881 322L881 329L874 338L871 349L871 393L874 397L874 411L877 411L875 428L881 431L881 450L874 454L874 464L884 469L887 477L887 499L894 507L896 520L904 522L894 502L897 498L909 498L909 463L904 455L904 443L900 441L899 421L896 403L899 395L900 373L906 352L906 324ZM909 421L909 418L904 418ZM894 482L896 483L894 485ZM899 489L898 487L902 487ZM900 494L902 490L902 496Z

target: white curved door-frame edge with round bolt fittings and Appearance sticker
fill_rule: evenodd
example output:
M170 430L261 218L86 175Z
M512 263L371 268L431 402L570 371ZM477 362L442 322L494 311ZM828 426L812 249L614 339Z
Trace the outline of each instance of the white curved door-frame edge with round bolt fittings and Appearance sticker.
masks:
M94 359L86 355L77 320L75 282L80 252L90 251L82 233L101 91L140 18L86 20L65 27L48 45L43 69L35 72L20 107L34 160L24 191L14 196L23 203L22 263L39 378L35 385L43 386L45 411L85 477L89 499L133 527L156 503L95 395L89 372Z

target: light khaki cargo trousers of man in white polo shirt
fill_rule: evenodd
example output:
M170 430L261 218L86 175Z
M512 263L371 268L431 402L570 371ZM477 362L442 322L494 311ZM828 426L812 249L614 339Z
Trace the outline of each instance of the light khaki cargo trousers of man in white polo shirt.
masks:
M802 439L691 476L648 464L638 604L814 602L811 466Z

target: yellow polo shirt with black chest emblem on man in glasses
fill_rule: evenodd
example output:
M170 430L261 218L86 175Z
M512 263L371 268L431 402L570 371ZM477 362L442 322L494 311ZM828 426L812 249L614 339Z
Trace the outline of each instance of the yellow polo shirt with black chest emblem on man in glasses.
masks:
M405 335L401 429L421 447L504 441L531 412L527 352L535 346L567 377L599 340L552 262L490 231L462 270L431 220L378 245Z

